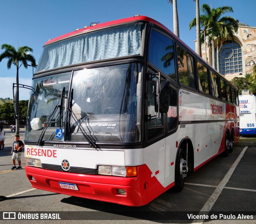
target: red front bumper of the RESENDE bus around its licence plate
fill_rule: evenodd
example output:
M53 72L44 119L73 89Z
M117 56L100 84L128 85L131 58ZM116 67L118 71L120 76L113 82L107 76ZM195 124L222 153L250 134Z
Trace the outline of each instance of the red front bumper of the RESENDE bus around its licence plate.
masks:
M144 173L144 165L138 167L138 176L130 178L59 172L30 166L26 166L25 170L32 186L41 190L128 206L148 203L145 175L140 175ZM59 182L76 184L78 190L61 188ZM117 188L125 189L126 195L118 194Z

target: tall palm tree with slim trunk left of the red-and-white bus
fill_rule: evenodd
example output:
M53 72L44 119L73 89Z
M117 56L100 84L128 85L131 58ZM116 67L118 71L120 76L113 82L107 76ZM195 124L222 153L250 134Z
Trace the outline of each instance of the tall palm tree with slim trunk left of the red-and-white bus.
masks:
M23 65L26 69L28 68L28 62L31 63L33 67L36 67L36 59L34 56L29 54L29 52L33 52L32 48L28 46L23 46L16 50L14 46L10 44L2 44L1 49L4 50L2 54L0 54L0 62L2 59L8 59L7 61L7 69L11 68L11 65L14 64L16 66L16 93L19 93L19 68ZM17 108L18 108L18 100L17 100ZM16 111L19 113L18 111ZM16 115L19 118L19 114ZM16 134L20 133L19 120L16 119Z

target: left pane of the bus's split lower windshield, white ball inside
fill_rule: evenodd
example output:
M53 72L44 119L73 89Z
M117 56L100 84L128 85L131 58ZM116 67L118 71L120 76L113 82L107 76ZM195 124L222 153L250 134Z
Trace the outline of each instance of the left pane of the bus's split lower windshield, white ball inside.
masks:
M31 94L28 105L26 139L38 140L47 123L44 140L54 139L55 130L64 128L70 77L71 72L68 72L33 80L35 91Z

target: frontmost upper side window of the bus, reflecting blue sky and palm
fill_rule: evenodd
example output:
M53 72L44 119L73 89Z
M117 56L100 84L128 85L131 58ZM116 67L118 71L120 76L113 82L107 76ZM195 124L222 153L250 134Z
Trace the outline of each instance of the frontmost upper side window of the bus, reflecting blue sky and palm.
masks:
M152 30L150 34L148 60L162 73L176 80L173 42L170 38L156 30Z

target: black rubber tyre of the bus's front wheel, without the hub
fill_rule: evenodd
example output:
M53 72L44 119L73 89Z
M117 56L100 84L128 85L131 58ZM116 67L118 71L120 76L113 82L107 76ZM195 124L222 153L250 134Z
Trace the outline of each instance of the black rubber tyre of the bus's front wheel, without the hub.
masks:
M182 161L185 160L183 149L180 148L176 157L175 164L175 186L174 189L180 192L184 188L184 176L182 175Z

